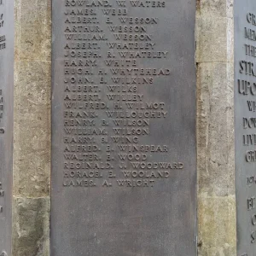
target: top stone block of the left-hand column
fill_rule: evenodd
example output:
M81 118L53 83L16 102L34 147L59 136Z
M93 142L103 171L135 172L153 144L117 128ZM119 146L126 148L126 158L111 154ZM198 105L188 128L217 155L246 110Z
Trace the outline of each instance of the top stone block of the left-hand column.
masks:
M50 61L51 1L15 1L16 60Z

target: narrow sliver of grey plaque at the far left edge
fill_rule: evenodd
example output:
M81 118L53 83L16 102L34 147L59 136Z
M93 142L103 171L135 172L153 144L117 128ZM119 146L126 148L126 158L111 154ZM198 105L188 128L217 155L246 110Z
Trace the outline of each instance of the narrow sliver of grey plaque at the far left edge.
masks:
M11 255L14 1L0 0L0 255Z

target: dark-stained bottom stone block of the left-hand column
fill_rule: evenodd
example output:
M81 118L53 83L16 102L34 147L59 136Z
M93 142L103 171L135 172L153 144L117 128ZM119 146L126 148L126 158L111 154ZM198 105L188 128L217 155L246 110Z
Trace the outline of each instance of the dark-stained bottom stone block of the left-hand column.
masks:
M13 256L49 256L49 197L14 197L13 209Z

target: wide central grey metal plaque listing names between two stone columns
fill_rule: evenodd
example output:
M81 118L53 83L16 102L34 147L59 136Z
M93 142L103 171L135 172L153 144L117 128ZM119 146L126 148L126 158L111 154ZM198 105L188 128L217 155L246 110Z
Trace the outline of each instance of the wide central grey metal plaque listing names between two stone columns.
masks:
M195 0L53 0L51 255L195 256Z

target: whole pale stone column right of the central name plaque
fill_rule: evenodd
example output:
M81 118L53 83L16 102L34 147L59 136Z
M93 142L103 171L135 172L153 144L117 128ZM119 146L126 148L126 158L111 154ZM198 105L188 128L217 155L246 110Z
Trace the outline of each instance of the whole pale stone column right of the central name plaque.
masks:
M233 0L198 0L198 255L236 255Z

